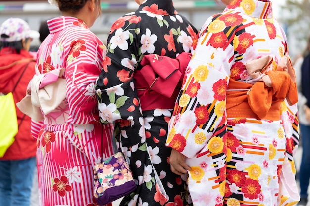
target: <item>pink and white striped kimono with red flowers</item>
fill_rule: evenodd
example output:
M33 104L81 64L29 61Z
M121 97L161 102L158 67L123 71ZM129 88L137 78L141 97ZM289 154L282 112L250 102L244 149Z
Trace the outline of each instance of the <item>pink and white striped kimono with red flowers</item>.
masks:
M65 98L56 109L43 114L40 131L32 127L33 133L38 133L40 204L96 206L93 165L101 157L102 126L94 88L105 46L79 19L57 17L49 20L48 26L50 35L40 46L37 58L43 76L41 85L52 81L50 71L64 68L59 78L65 79L65 87L55 92L52 99L64 92ZM113 127L103 127L103 156L109 157L113 153Z

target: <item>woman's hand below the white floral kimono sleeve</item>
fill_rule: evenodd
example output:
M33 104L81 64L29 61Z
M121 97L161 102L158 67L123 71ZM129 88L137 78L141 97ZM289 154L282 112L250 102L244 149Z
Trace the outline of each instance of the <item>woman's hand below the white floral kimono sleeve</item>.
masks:
M187 171L191 170L191 167L185 163L185 156L175 149L172 149L171 151L169 162L171 171L175 174L187 174Z

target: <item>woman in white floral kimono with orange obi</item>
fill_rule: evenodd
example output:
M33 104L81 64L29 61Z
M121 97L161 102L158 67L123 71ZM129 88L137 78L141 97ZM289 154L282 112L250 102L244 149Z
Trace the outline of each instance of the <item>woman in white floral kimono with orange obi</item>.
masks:
M293 205L297 88L285 33L270 0L222 2L169 123L171 169L189 173L194 206Z

